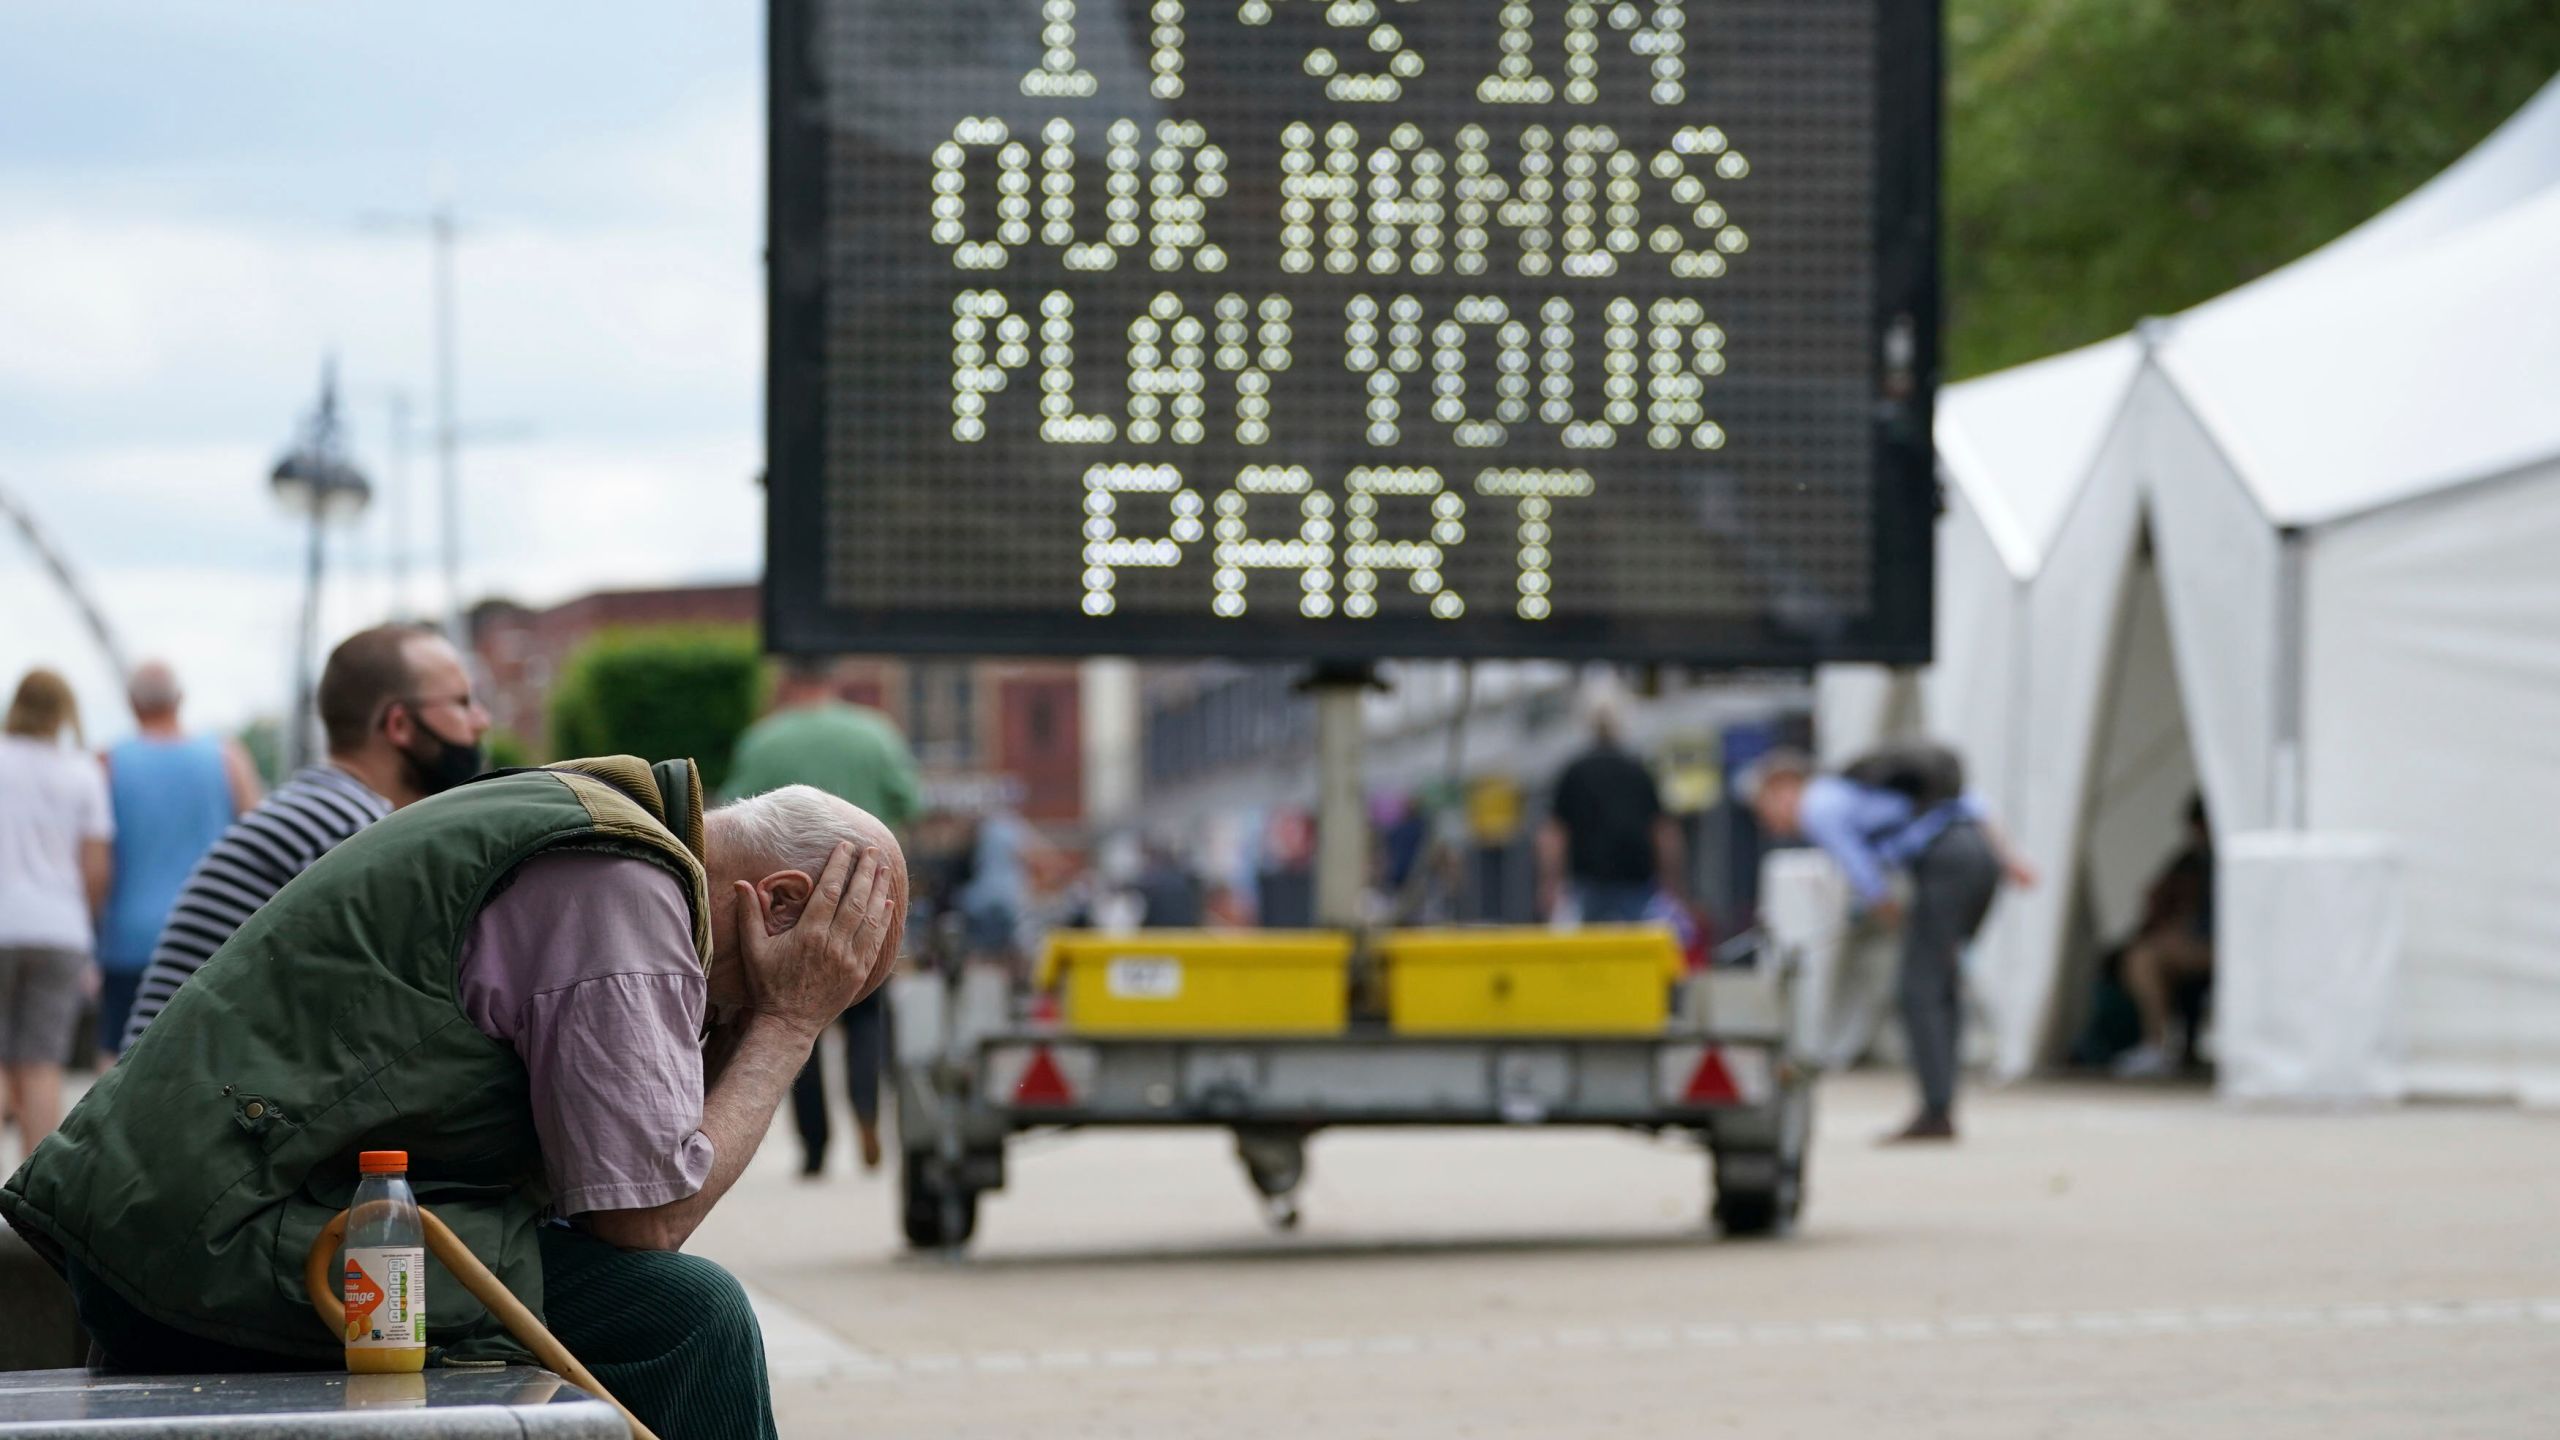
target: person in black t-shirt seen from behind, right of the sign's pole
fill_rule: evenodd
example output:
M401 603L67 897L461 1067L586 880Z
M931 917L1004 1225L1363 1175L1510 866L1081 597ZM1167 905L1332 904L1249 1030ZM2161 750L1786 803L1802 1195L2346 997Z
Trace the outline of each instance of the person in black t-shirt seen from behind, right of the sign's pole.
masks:
M1590 702L1590 728L1592 743L1556 776L1539 830L1539 910L1582 925L1633 925L1654 897L1687 902L1684 848L1654 771L1626 748L1615 697Z

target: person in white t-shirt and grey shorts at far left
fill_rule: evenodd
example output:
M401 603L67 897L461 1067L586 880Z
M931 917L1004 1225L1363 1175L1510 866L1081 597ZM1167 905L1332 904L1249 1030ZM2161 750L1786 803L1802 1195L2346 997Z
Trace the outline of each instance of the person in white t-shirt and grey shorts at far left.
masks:
M108 776L79 743L72 687L26 671L0 728L0 1079L26 1150L61 1120L61 1066L113 861Z

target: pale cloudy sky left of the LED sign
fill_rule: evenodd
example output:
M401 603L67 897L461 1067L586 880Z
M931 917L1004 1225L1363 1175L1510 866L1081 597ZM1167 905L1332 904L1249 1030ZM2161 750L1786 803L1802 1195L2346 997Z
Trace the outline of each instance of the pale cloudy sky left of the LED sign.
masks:
M0 487L189 720L284 705L300 523L266 471L335 354L376 482L328 630L440 605L433 456L392 479L389 397L433 405L428 243L451 195L466 592L561 600L758 569L763 5L543 0L0 5ZM402 530L402 515L407 528ZM105 664L0 533L0 687Z

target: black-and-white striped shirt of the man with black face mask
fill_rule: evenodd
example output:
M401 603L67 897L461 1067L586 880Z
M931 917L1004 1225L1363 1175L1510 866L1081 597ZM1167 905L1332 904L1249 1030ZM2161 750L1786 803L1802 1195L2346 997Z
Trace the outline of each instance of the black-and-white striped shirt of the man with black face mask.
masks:
M177 892L169 925L151 951L151 969L143 971L133 997L123 1048L131 1051L133 1040L143 1038L143 1027L169 1004L177 986L284 889L284 881L389 812L392 802L343 769L310 766L276 787L264 805L233 820Z

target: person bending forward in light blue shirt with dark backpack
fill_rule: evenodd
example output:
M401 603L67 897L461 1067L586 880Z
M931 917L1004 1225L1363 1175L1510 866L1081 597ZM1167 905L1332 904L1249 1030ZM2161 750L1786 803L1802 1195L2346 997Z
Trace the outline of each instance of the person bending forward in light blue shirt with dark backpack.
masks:
M1999 884L2030 887L2035 871L2007 851L1946 746L1887 746L1841 774L1820 774L1802 751L1772 751L1743 776L1743 794L1769 838L1820 846L1848 876L1859 910L1902 928L1894 992L1920 1112L1889 1140L1953 1140L1964 945ZM1907 907L1892 889L1894 871L1910 876Z

